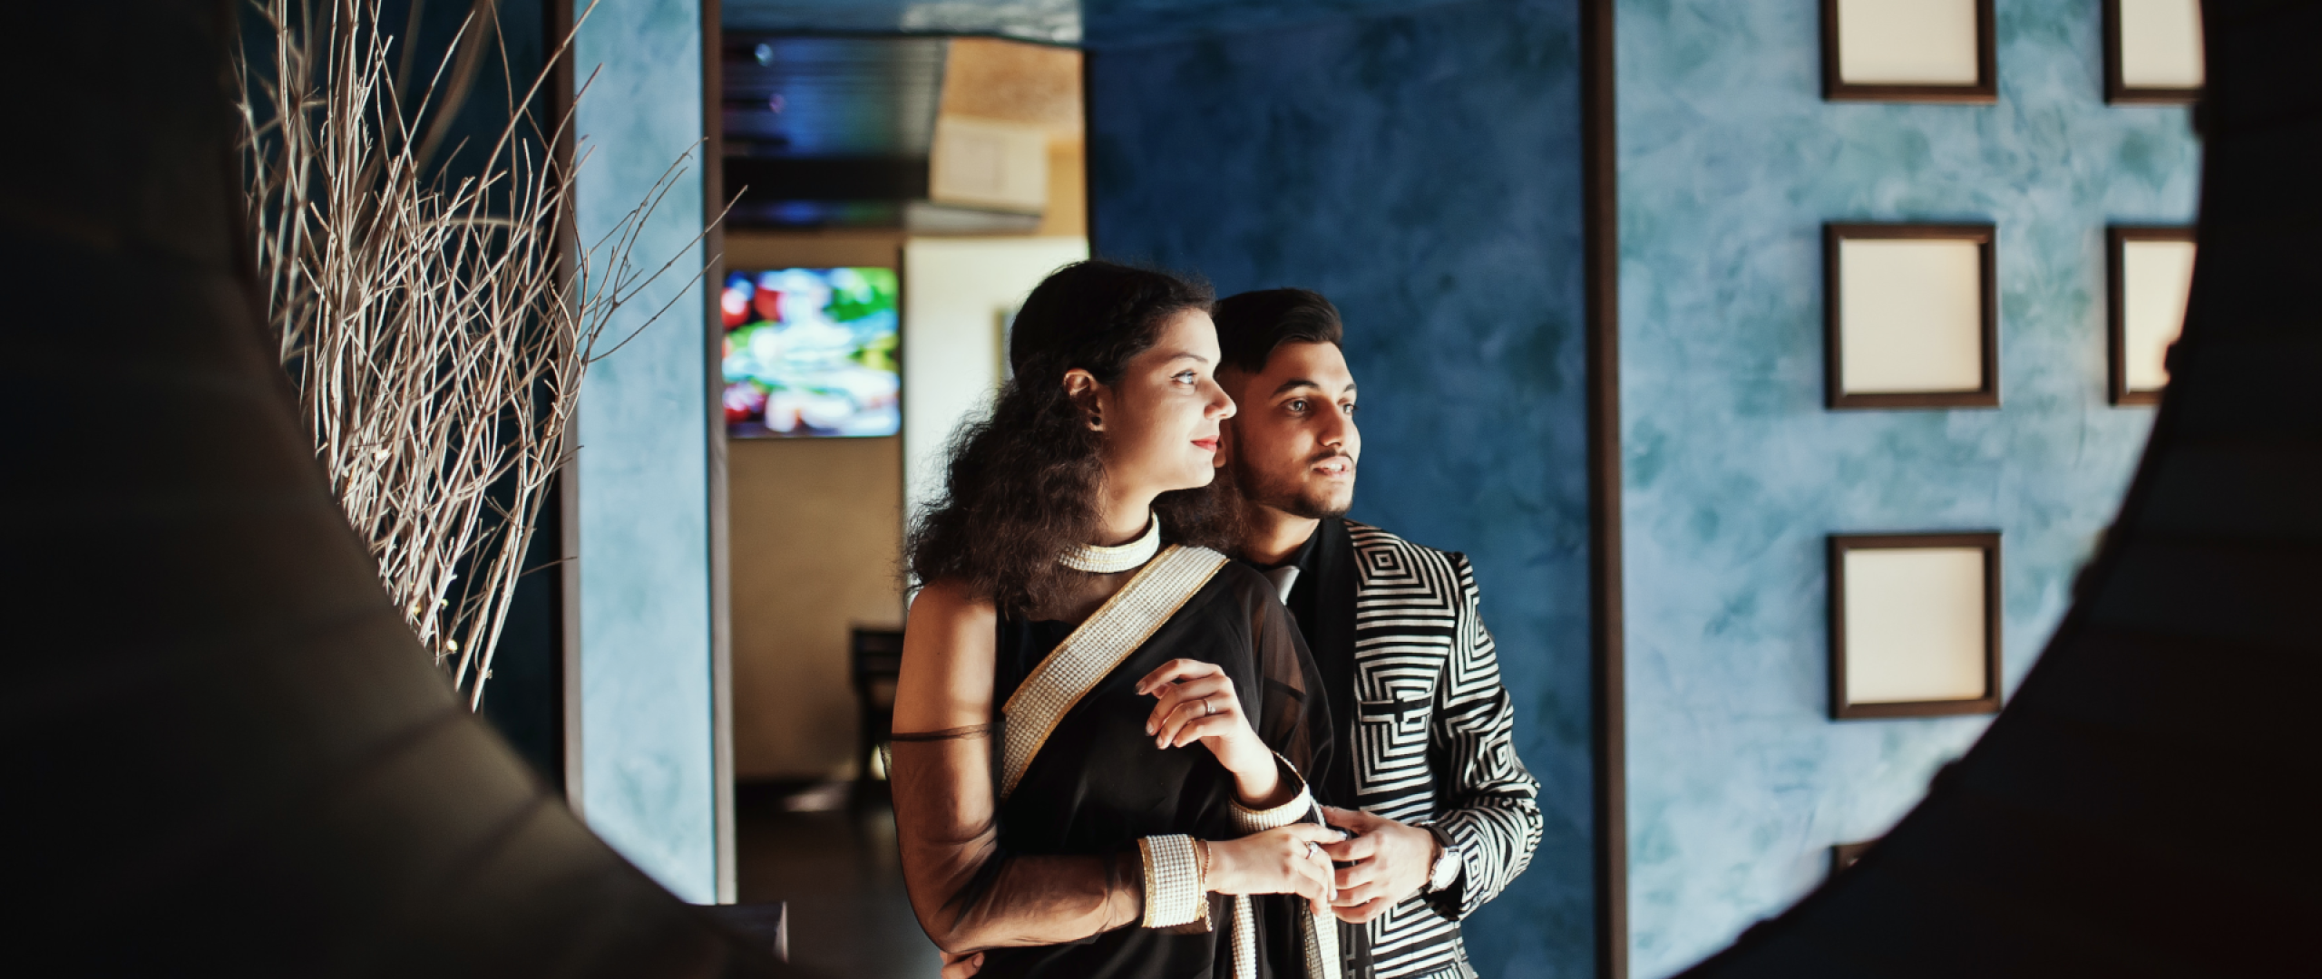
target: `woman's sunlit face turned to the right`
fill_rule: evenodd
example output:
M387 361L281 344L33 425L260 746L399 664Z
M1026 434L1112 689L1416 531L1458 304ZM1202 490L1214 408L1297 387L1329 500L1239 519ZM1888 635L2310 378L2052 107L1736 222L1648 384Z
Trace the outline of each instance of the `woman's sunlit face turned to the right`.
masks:
M1119 385L1096 387L1108 490L1163 494L1210 485L1219 422L1233 418L1233 399L1212 378L1217 362L1217 325L1189 309L1122 367Z

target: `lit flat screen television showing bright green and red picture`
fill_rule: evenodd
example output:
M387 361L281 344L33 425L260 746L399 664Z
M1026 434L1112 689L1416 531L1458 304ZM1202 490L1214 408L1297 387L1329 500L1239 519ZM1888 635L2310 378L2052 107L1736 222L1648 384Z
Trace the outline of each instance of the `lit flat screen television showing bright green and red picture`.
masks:
M903 429L894 269L729 271L720 309L729 436Z

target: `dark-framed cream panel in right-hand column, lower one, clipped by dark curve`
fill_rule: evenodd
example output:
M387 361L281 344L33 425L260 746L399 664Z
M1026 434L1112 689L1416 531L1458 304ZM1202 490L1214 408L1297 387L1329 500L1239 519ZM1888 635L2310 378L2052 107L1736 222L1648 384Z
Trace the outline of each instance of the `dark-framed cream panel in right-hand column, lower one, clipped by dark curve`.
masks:
M2192 227L2106 227L2104 239L2113 404L2159 404L2192 295Z

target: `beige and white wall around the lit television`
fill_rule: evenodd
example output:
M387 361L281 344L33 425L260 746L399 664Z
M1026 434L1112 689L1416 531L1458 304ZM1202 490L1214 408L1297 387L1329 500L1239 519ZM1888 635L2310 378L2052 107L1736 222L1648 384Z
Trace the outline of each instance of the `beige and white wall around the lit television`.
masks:
M738 779L854 777L848 633L903 622L903 501L926 499L943 445L987 408L1001 316L1087 255L1082 237L727 234L727 269L903 269L901 436L727 443Z

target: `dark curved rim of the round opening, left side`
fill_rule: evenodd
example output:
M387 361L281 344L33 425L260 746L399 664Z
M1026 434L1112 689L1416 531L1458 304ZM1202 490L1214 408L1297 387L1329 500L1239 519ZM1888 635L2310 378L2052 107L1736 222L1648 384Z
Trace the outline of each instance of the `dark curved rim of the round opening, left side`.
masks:
M37 844L9 856L9 882L35 895L12 960L37 974L801 974L555 805L378 589L262 325L230 9L0 16L0 37L33 49L0 60L21 95L0 111L12 132L49 137L0 153L0 274L21 299L0 325L14 353L0 397L26 422L0 469L0 608L23 652L0 663L12 689L104 694L0 715L0 770L42 800L19 826ZM123 271L137 271L135 304L91 302ZM111 397L107 371L158 380ZM91 499L146 506L56 520Z

